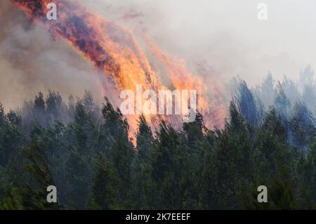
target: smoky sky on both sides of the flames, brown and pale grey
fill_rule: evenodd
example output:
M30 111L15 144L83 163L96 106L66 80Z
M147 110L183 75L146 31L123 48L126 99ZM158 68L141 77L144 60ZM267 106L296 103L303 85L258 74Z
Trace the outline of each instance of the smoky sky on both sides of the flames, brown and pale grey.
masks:
M206 62L221 83L239 76L258 84L269 70L277 79L284 74L297 79L306 65L316 67L312 0L80 2L133 32L145 30L193 72ZM268 6L268 20L257 18L261 2ZM92 65L63 41L53 41L41 25L30 26L10 1L1 1L0 25L1 102L13 107L48 88L62 95L81 95L85 89L100 95Z

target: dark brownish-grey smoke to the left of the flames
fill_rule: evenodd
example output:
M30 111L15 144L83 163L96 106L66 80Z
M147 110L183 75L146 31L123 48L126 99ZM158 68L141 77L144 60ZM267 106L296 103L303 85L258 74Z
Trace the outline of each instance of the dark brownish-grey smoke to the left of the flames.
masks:
M11 1L1 1L0 26L0 102L6 110L48 89L59 91L65 100L90 90L101 101L93 65L44 27L33 25Z

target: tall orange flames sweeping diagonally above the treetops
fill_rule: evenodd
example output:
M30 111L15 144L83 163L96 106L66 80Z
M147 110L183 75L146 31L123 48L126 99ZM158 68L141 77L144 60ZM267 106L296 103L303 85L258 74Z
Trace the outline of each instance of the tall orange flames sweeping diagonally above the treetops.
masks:
M25 12L27 18L41 22L53 37L68 41L79 53L93 62L105 77L112 79L115 86L110 91L136 91L138 84L148 90L166 89L157 72L152 69L144 51L126 27L108 22L74 0L54 1L58 6L58 20L46 18L46 6L51 2L49 0L11 1ZM164 66L172 88L180 91L197 90L197 110L205 117L206 126L221 126L225 118L225 107L216 88L206 86L202 78L193 76L183 62L162 53L149 39L145 42L154 58ZM107 91L109 90L105 90L105 94ZM216 100L211 100L211 97ZM136 130L136 117L127 118L132 129ZM146 116L146 119L152 124L156 118Z

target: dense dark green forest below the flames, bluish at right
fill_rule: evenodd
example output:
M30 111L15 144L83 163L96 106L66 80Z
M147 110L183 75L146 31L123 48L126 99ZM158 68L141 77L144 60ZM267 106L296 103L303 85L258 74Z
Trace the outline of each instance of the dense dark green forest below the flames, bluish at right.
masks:
M88 91L67 104L48 91L19 110L1 105L0 209L314 209L312 84L300 91L268 74L250 89L236 79L223 129L198 114L153 133L139 117L137 146L121 112ZM48 185L58 203L46 202ZM259 185L268 203L258 203Z

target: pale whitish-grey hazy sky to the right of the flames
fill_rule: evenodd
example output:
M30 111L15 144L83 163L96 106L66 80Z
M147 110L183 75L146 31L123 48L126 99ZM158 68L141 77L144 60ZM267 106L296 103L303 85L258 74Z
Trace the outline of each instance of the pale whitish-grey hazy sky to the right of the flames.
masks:
M281 79L297 78L308 64L316 67L314 0L85 2L108 18L129 8L141 13L133 25L147 28L164 49L188 62L206 60L223 80L238 74L256 84L268 70ZM257 18L261 2L268 20Z

